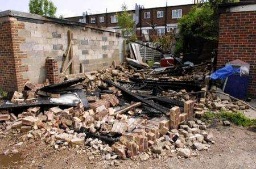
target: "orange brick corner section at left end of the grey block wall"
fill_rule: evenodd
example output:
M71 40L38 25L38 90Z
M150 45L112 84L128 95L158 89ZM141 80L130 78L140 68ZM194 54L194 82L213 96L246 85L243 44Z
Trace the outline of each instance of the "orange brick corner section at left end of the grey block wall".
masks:
M18 29L24 29L24 24L9 17L0 20L0 86L6 91L22 90L27 80L20 74L26 71L21 63L26 54L19 51L24 39L18 36Z

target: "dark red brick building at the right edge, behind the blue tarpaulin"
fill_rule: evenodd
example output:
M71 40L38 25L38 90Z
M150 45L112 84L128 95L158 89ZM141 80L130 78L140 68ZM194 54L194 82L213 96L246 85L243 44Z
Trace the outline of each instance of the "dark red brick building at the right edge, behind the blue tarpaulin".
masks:
M256 1L220 5L217 68L240 59L250 64L249 94L256 96Z

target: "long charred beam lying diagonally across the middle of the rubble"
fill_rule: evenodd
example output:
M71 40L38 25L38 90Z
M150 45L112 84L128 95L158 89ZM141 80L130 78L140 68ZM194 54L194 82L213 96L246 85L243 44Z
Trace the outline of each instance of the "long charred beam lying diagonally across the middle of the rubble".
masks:
M109 83L112 86L115 86L116 88L121 90L123 93L125 93L127 95L130 95L133 99L135 99L135 101L142 102L142 103L148 105L148 107L152 107L154 109L157 109L158 111L160 111L162 113L168 113L168 111L169 111L168 108L163 107L162 105L156 104L154 102L151 102L150 100L143 99L141 96L138 96L137 94L134 94L133 92L125 90L125 88L113 83L112 81L104 80L104 82Z

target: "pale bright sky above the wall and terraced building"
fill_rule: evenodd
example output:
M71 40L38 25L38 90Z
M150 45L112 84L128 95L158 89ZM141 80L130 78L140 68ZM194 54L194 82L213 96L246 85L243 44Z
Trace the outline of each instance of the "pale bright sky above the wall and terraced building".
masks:
M128 10L134 10L135 3L143 5L145 8L161 7L173 5L184 5L193 3L193 0L51 0L57 7L56 15L64 17L80 16L82 12L99 14L106 11L115 12L121 10L121 5L126 3ZM15 10L29 12L29 0L0 0L0 11Z

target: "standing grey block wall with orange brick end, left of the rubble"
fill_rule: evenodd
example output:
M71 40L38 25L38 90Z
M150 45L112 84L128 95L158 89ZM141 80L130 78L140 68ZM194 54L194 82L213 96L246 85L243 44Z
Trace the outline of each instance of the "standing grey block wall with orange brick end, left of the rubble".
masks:
M5 33L0 35L6 40L0 45L0 59L5 60L0 72L7 75L1 75L0 87L5 90L20 91L27 81L45 82L47 57L62 69L69 30L73 35L73 73L102 69L121 58L123 38L110 29L17 11L0 12L0 18L5 18L0 19L0 29L9 33L7 40Z

